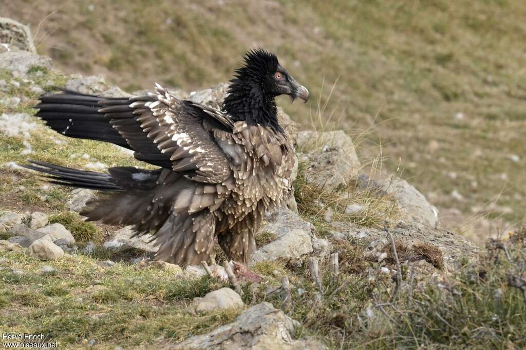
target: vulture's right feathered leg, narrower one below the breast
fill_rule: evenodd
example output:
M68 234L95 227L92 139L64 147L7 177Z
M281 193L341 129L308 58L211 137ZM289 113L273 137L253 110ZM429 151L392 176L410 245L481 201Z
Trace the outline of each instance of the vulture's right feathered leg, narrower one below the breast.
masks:
M226 231L218 237L219 246L230 260L244 263L250 262L252 253L256 251L254 229L242 227L237 231Z

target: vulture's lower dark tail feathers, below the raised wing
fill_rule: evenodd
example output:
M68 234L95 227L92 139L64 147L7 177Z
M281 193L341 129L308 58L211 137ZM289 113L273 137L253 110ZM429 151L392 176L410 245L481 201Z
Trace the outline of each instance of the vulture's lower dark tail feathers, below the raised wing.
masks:
M30 161L22 165L45 174L49 183L95 189L113 193L89 200L80 215L88 221L102 221L109 225L135 225L138 234L157 231L170 213L172 198L191 181L164 170L164 181L169 175L173 186L159 186L163 169L153 171L131 166L109 168L109 173L96 173L54 164Z

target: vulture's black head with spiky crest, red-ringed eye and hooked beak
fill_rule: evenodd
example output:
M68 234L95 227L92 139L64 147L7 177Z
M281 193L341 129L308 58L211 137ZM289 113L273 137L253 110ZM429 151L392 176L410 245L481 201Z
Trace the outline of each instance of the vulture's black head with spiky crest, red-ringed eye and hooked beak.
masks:
M279 64L276 55L261 48L245 54L245 65L236 70L236 77L231 82L252 86L266 97L288 95L292 101L300 98L305 102L309 99L309 90L292 78Z

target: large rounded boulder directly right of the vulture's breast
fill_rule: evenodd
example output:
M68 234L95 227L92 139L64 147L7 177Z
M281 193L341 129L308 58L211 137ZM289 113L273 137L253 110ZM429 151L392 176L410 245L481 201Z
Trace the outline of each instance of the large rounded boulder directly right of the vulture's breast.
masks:
M299 160L308 164L305 169L308 182L332 190L358 175L361 164L345 132L302 131L297 142L301 152Z

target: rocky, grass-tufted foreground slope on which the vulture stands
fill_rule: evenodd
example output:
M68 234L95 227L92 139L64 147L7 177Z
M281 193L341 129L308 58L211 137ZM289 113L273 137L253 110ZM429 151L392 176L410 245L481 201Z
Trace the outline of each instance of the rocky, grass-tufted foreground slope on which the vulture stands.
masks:
M0 27L3 36L29 33ZM55 71L30 34L2 40L11 43L0 47L2 330L43 333L65 348L526 344L524 231L479 252L441 228L437 208L408 182L363 173L344 132L298 132L282 110L297 150L294 194L266 217L248 268L219 249L209 271L151 261L148 237L77 214L98 193L45 184L17 165L144 167L126 150L67 139L32 116L39 94L57 86L128 93L100 76ZM225 88L173 93L217 108Z

